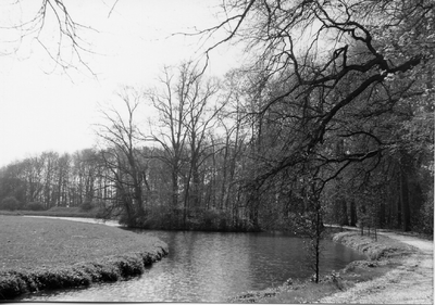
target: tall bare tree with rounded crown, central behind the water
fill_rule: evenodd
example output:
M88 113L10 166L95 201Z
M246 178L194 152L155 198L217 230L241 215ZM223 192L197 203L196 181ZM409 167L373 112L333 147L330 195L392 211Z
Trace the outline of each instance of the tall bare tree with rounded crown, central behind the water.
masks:
M159 157L171 168L172 207L178 208L183 203L186 223L189 204L200 205L200 166L210 156L207 137L223 105L212 101L219 90L216 80L204 80L191 62L175 72L165 67L160 81L163 90L148 93L159 115L159 132L151 131L151 137L165 152Z

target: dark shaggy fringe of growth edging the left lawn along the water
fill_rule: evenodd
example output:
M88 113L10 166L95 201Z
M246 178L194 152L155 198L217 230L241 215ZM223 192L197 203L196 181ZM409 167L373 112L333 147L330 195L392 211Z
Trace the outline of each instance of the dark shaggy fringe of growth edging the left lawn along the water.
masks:
M0 300L50 289L86 288L92 283L125 280L142 275L147 267L167 254L167 244L153 238L146 250L134 253L103 256L72 266L0 271Z

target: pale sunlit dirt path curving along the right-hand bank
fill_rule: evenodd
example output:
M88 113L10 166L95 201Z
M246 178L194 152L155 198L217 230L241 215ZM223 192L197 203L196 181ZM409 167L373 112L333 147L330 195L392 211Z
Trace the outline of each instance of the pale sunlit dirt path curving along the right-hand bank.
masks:
M413 245L420 251L402 262L402 266L373 281L320 300L320 303L364 304L433 304L434 242L383 231L390 239Z

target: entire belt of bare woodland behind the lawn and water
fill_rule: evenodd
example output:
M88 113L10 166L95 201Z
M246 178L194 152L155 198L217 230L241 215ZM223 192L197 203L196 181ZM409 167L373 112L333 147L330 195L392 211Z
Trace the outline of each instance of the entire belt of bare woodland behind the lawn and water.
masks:
M2 208L84 206L133 227L433 232L433 1L241 1L249 63L186 62L101 110L99 143L0 169Z

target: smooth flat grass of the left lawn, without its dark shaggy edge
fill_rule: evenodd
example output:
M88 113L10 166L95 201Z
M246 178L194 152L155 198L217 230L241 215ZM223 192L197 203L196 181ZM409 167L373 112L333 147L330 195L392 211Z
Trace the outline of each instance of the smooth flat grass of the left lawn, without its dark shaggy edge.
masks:
M151 251L156 238L109 226L0 215L0 270L63 266Z

